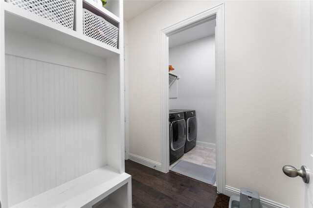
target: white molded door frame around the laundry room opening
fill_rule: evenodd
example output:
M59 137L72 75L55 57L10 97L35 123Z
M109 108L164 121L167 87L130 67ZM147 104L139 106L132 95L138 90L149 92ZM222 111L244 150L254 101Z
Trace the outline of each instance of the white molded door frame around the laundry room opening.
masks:
M169 40L170 35L216 19L215 28L215 76L216 76L216 183L217 191L225 192L225 38L224 3L161 31L161 149L162 171L169 171Z

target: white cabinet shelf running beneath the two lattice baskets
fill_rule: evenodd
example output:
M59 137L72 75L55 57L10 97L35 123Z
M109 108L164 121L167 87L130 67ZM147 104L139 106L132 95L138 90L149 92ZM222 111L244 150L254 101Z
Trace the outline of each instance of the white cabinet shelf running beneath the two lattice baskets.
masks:
M119 49L107 44L101 44L101 42L85 36L82 31L70 30L7 2L2 1L0 3L4 8L4 22L7 28L98 57L107 58L120 54ZM104 8L103 11L105 11ZM107 10L106 12L107 14L110 13ZM113 14L110 14L110 17L115 21L119 21L119 18Z

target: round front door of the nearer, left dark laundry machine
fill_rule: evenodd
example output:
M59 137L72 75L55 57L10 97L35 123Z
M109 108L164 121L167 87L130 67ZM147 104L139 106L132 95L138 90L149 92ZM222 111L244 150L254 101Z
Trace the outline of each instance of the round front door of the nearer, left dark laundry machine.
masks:
M186 142L186 122L184 119L173 121L171 124L171 149L173 151L183 147Z

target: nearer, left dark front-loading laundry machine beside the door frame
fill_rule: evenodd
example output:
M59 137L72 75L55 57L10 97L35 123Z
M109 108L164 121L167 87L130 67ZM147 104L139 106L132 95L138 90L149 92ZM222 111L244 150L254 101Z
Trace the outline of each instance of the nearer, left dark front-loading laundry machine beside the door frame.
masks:
M184 154L186 142L186 122L184 112L169 112L170 125L170 164Z

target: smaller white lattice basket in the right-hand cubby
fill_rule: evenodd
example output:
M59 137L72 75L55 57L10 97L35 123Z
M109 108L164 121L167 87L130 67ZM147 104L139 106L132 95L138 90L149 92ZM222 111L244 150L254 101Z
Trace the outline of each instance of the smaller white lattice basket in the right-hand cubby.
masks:
M118 28L87 9L84 12L84 35L117 48Z

